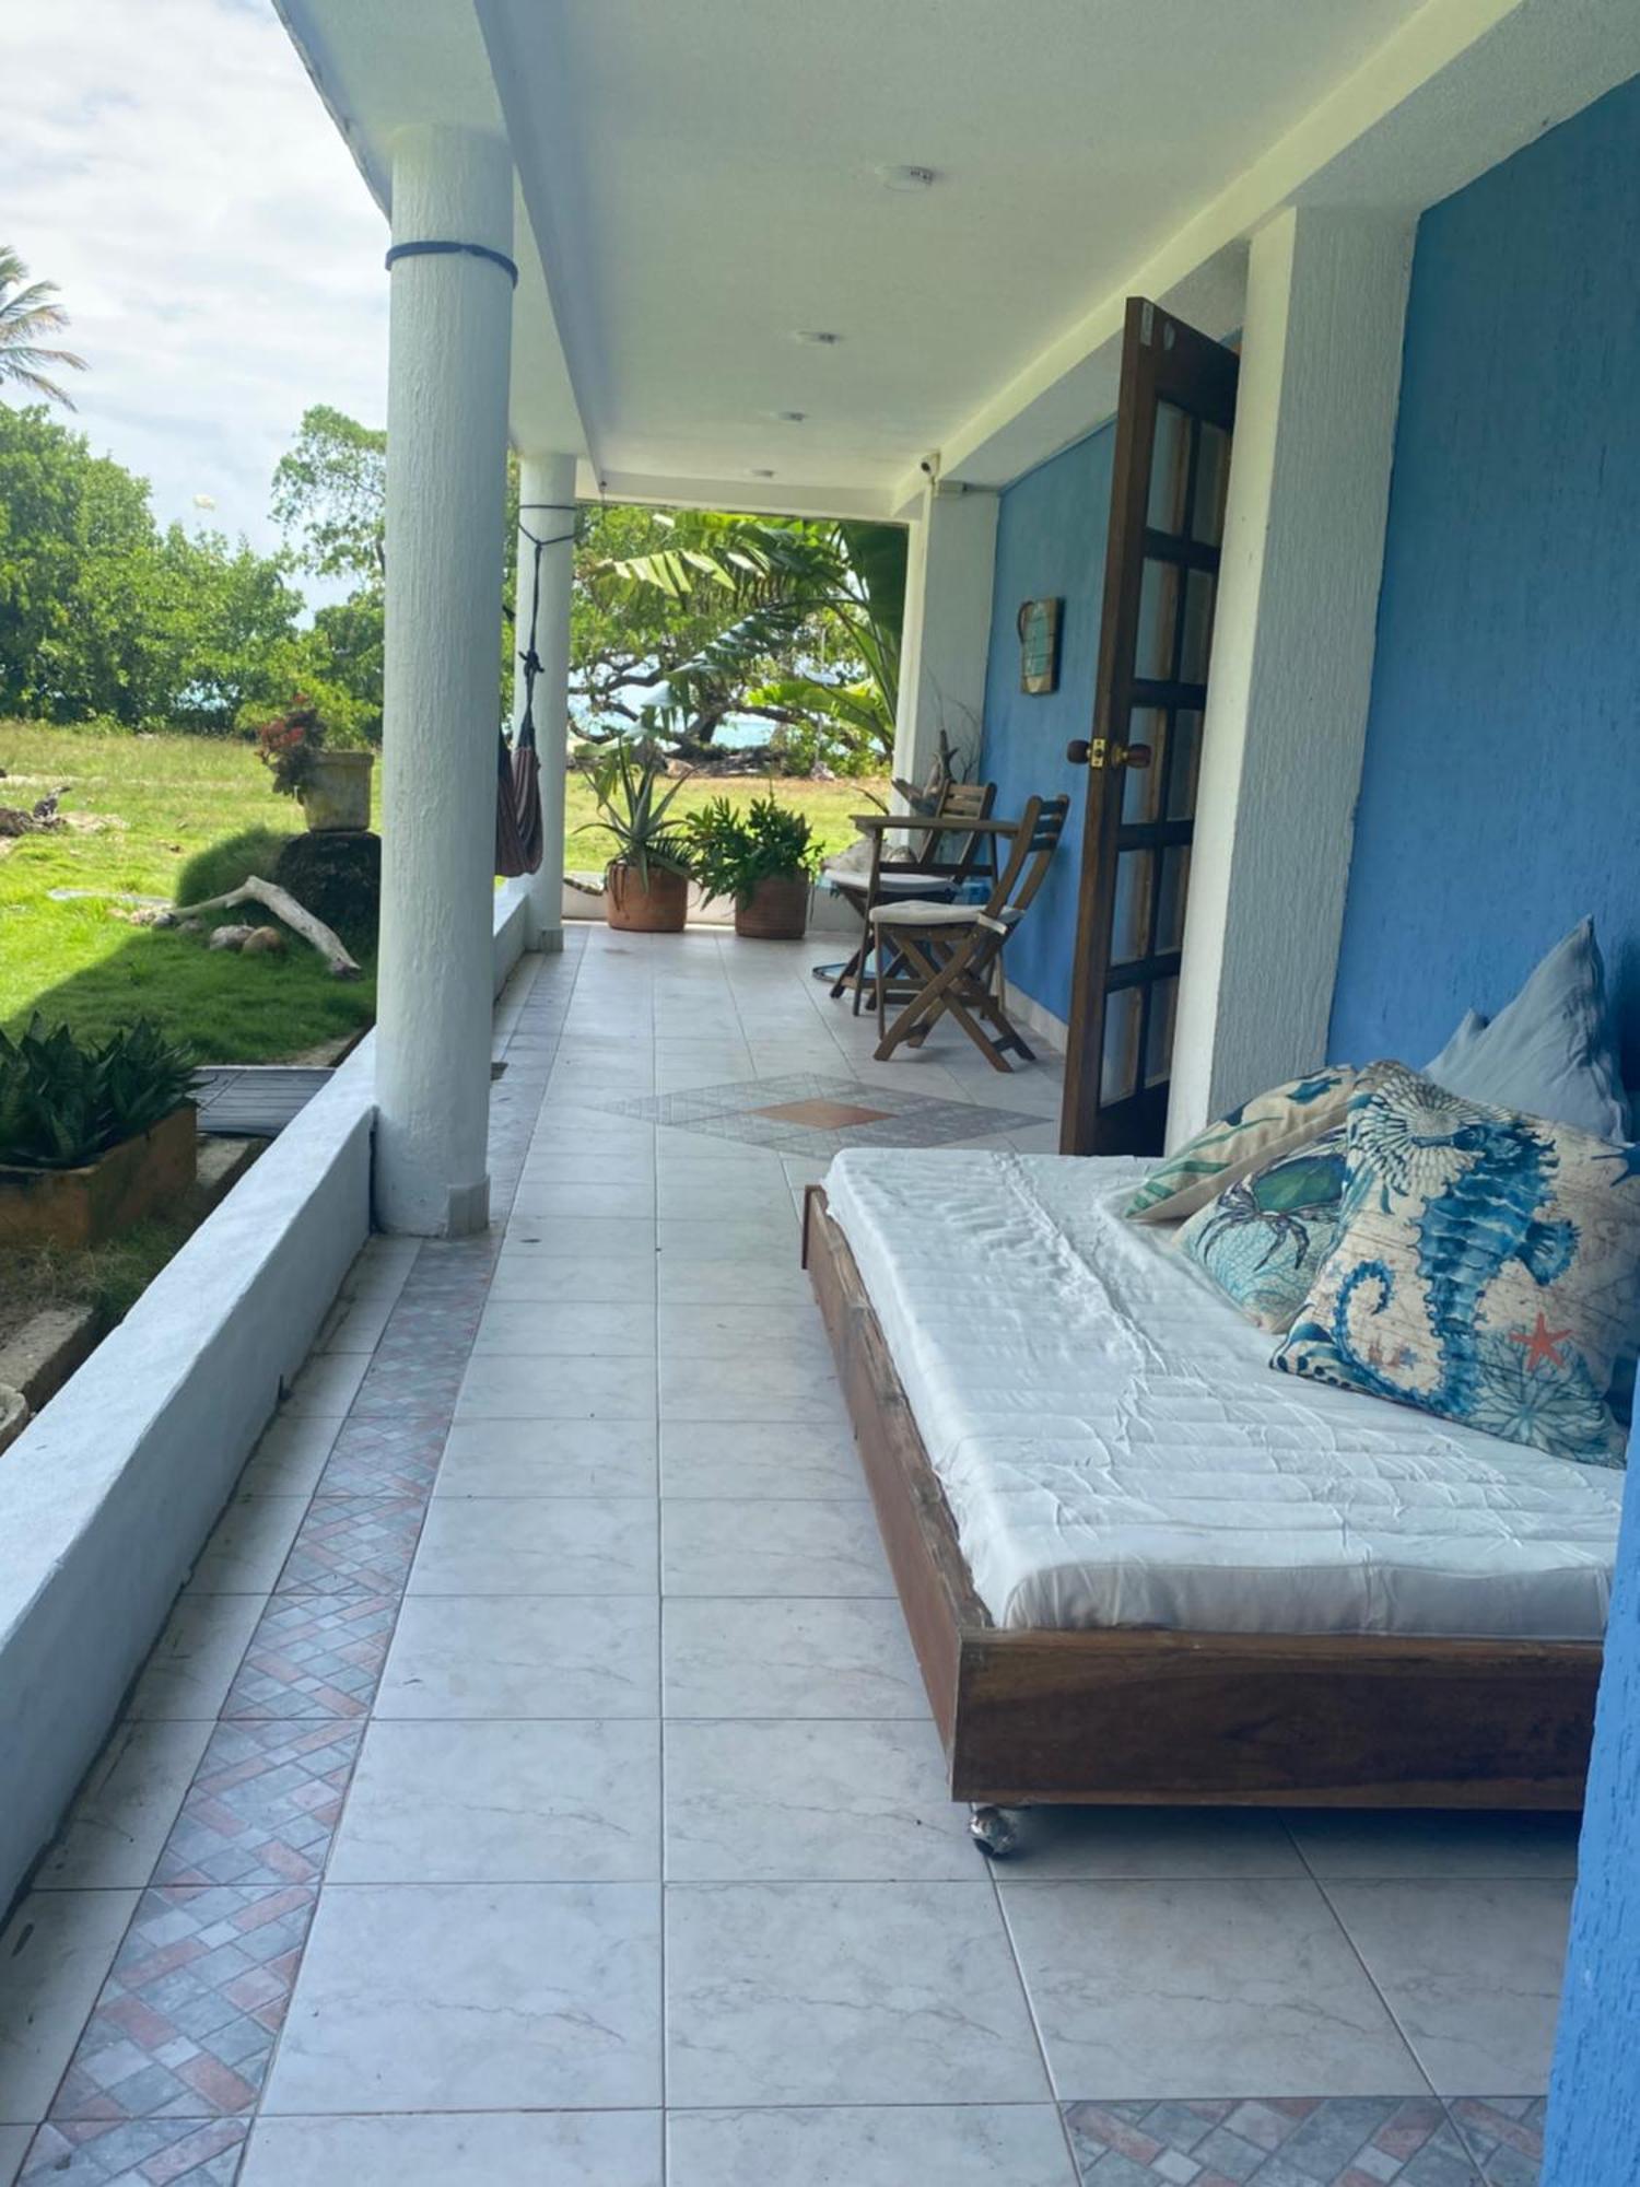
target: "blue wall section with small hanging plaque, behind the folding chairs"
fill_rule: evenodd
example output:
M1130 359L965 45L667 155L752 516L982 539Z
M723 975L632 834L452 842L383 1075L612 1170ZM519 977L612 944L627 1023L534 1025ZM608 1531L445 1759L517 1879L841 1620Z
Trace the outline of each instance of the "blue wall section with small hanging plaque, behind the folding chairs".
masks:
M1069 765L1065 746L1071 737L1087 737L1093 720L1113 448L1115 429L1102 426L1026 472L1006 490L997 512L982 772L997 785L999 814L1017 814L1028 796L1071 794L1065 835L1043 890L1008 943L1008 980L1061 1019L1071 1006L1087 790L1087 776ZM1058 691L1041 698L1019 689L1015 619L1023 599L1065 601Z

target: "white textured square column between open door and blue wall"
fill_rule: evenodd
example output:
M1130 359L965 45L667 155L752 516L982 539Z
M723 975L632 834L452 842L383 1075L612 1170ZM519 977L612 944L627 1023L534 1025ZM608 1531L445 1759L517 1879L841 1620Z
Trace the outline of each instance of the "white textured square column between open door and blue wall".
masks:
M1325 1061L1371 698L1413 230L1253 238L1168 1144Z

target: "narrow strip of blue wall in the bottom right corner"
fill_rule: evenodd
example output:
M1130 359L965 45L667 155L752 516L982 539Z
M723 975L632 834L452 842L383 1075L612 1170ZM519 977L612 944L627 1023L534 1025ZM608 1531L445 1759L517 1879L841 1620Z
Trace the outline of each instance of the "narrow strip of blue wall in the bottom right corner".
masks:
M1640 1465L1640 1432L1629 1467ZM1544 2187L1640 2180L1640 1496L1625 1498Z

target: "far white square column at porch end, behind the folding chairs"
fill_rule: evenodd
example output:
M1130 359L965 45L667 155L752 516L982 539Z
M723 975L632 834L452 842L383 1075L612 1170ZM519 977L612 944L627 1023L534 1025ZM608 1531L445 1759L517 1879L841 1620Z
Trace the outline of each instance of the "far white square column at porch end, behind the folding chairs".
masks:
M927 781L940 730L971 776L980 765L995 562L997 494L927 488L910 525L905 569L894 722L901 781Z

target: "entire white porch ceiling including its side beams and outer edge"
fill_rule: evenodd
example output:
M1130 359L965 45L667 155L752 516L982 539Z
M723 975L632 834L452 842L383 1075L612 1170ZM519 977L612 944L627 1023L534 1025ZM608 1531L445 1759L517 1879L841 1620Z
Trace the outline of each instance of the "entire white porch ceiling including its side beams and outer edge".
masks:
M383 203L405 122L507 129L520 446L842 514L1109 416L1131 291L1229 332L1279 203L1417 212L1640 68L1633 0L276 4Z

